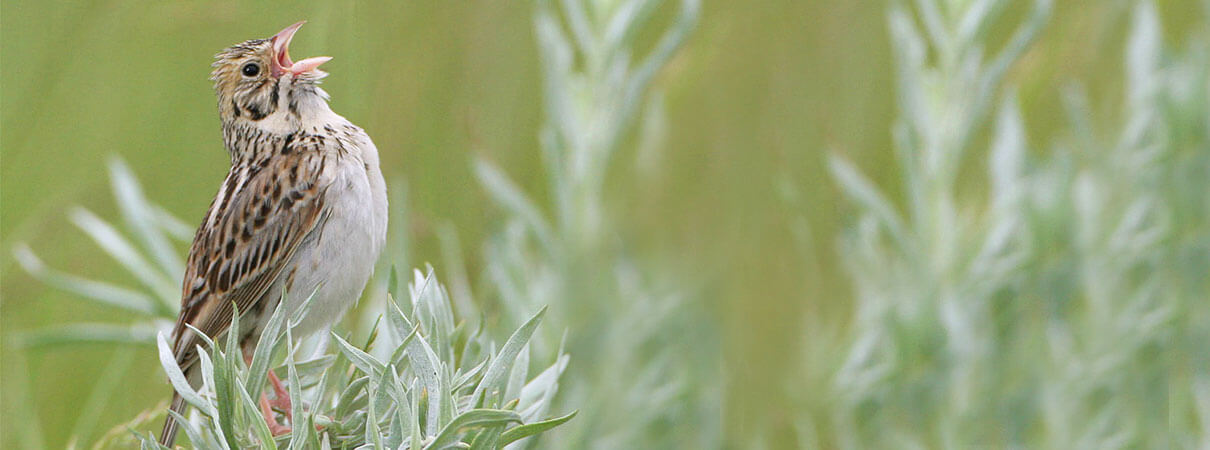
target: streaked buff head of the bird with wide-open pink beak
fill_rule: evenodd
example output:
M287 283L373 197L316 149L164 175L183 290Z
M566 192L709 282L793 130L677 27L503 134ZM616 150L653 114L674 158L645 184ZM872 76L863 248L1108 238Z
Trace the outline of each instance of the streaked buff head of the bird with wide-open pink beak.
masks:
M327 106L328 96L318 82L328 74L319 64L332 57L290 60L289 45L306 21L286 27L272 38L253 39L215 56L214 91L224 122L261 122L281 115L300 120L309 109Z

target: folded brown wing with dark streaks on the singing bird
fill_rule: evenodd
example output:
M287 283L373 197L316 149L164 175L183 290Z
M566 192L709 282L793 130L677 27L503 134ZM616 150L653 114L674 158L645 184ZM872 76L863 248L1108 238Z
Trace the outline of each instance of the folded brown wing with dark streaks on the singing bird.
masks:
M194 364L198 344L185 324L211 338L224 334L231 305L241 313L253 308L327 217L324 155L289 150L232 167L194 237L173 331L183 369Z

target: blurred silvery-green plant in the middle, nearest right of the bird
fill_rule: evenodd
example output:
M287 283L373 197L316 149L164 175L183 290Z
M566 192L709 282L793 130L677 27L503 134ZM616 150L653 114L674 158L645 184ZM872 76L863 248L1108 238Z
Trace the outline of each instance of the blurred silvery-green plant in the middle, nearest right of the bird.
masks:
M546 120L540 143L551 201L523 192L500 169L477 163L507 221L486 246L486 277L512 323L551 305L548 323L570 327L577 380L561 403L590 405L552 439L559 448L718 445L720 367L714 334L693 327L701 311L658 270L629 258L605 212L607 167L635 129L659 129L652 77L697 21L697 0L675 4L666 25L653 0L538 1L536 36ZM656 28L659 27L659 28ZM645 28L650 52L636 53ZM643 108L644 104L653 105ZM653 140L640 139L650 162ZM563 342L557 327L537 348ZM714 351L714 352L711 352Z

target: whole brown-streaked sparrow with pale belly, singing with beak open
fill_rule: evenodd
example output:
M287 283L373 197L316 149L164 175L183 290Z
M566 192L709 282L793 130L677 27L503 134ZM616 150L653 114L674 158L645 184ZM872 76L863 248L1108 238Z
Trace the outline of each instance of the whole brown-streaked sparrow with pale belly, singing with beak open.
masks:
M249 359L278 302L290 312L313 295L293 335L325 329L361 296L386 241L378 149L332 111L318 86L327 76L318 67L332 58L290 60L290 39L304 22L215 56L211 79L231 169L194 236L173 329L173 353L194 385L202 340L186 324L238 339ZM225 336L232 305L240 335ZM260 408L283 433L289 428L270 406L288 415L289 397L272 371L270 381L276 398L261 394ZM184 412L180 394L171 408ZM161 444L172 445L178 425L167 419Z

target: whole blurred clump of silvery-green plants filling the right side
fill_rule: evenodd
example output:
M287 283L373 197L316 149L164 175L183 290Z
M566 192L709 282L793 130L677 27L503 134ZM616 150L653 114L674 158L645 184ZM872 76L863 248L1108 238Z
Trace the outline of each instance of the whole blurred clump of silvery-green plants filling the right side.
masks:
M1070 88L1070 132L1041 151L1003 74L1049 2L987 52L1007 6L892 6L904 198L832 160L860 212L840 249L857 308L842 358L807 344L803 446L1210 444L1210 30L1166 50L1140 1L1120 125ZM957 183L969 157L985 196Z

